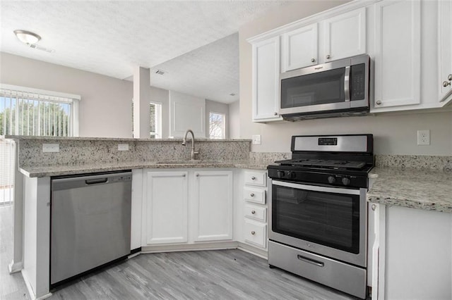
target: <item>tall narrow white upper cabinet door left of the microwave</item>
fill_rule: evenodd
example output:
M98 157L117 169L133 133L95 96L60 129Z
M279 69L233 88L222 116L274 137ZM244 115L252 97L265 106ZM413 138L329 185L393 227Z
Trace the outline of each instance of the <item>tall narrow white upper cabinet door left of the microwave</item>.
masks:
M253 120L282 120L279 110L280 38L253 44Z

